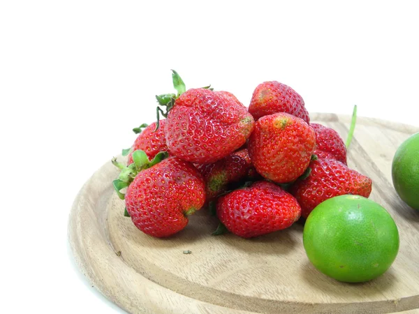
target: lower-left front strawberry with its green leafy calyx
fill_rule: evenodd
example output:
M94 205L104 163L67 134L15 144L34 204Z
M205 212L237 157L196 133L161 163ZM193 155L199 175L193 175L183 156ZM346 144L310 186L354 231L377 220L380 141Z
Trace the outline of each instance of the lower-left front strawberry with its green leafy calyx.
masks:
M191 163L167 153L149 162L144 151L134 151L134 163L122 169L114 181L119 197L125 200L127 216L135 227L153 237L169 237L184 229L188 216L203 207L205 184ZM160 161L162 160L162 161ZM126 194L120 190L128 186Z

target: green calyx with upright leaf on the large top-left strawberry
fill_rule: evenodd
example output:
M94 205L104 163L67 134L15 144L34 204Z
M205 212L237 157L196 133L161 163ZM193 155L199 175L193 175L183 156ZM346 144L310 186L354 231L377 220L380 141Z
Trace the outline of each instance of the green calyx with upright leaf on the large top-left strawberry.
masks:
M156 107L156 115L157 115L157 122L156 122L156 131L160 126L160 114L167 118L168 113L172 109L172 107L175 105L175 101L177 98L179 98L180 95L184 94L186 91L186 85L184 81L182 80L182 77L180 77L179 73L177 73L175 70L172 70L172 81L173 81L173 87L175 87L177 94L161 94L156 95L157 100L157 107ZM203 87L204 89L211 89L211 85ZM160 106L160 107L159 107ZM164 107L164 110L161 108Z

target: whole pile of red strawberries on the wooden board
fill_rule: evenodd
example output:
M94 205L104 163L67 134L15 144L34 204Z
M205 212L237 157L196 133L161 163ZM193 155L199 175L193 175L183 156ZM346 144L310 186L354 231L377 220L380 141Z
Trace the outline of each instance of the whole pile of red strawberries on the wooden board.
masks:
M291 87L263 82L248 110L227 91L186 91L175 71L172 78L177 94L156 96L157 121L134 129L128 165L112 160L121 169L115 190L142 232L168 237L208 207L221 222L217 234L257 237L307 218L330 197L369 197L371 179L348 168L344 141L310 123Z

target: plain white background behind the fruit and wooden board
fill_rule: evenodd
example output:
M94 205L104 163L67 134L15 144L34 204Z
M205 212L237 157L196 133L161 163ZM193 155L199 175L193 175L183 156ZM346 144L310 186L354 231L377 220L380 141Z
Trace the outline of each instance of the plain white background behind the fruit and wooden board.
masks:
M0 312L119 313L74 267L68 214L171 68L245 105L278 80L309 112L418 126L418 33L415 1L1 1Z

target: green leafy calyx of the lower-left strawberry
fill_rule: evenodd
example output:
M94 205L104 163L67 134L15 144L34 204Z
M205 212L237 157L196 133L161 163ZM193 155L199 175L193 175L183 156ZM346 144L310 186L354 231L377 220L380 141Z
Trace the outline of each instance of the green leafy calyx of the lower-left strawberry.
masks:
M112 184L119 198L121 200L125 200L125 194L122 193L121 190L128 188L138 173L140 173L142 170L153 167L157 163L160 163L161 160L168 158L168 156L169 154L167 151L161 151L153 158L153 160L149 160L147 154L145 154L145 151L138 149L133 152L133 163L128 166L124 165L123 163L119 163L117 158L112 158L112 164L121 170L118 178L112 181ZM129 216L126 209L124 215Z

